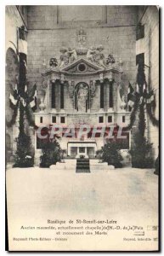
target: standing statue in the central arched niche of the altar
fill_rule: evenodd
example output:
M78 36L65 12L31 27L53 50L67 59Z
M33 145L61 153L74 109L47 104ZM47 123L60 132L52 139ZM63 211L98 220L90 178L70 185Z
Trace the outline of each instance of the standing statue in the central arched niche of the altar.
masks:
M88 87L84 84L79 85L77 92L77 110L79 112L86 112L86 105L88 101Z

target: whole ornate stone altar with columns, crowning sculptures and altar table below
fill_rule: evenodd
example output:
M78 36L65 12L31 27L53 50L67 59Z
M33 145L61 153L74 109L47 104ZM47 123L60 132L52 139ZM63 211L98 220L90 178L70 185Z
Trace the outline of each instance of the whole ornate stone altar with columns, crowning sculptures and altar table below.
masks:
M102 45L87 48L86 38L81 29L77 34L78 46L75 49L62 47L59 58L52 57L49 67L44 67L42 89L45 96L40 111L35 113L37 125L60 124L65 129L76 125L79 129L81 124L99 127L128 122L127 103L120 94L122 61L116 61L111 54L105 57ZM104 138L98 138L97 148L96 140L83 137L74 142L62 138L60 143L62 148L67 148L67 154L75 157L85 144L83 152L94 156L96 149L104 145Z

